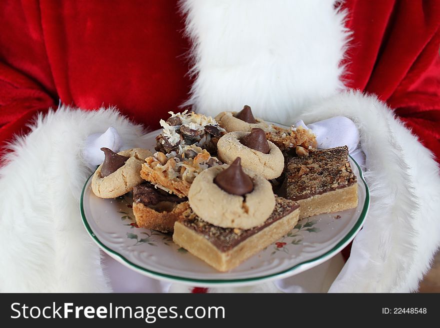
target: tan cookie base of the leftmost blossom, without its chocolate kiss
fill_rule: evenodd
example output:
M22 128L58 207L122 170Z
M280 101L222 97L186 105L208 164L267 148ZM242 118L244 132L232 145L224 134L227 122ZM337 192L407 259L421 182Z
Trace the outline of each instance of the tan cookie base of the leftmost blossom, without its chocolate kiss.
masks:
M91 189L100 198L115 198L131 191L134 186L143 182L140 169L145 158L151 156L147 149L133 148L118 152L128 159L125 164L106 177L101 176L102 164L96 169L91 179Z

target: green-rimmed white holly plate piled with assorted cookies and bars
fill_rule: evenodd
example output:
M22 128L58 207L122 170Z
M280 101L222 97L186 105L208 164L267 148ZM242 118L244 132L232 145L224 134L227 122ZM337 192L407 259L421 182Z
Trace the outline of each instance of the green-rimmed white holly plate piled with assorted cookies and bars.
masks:
M243 286L308 270L361 229L368 187L346 146L255 118L169 112L143 148L114 153L85 182L90 237L146 276Z

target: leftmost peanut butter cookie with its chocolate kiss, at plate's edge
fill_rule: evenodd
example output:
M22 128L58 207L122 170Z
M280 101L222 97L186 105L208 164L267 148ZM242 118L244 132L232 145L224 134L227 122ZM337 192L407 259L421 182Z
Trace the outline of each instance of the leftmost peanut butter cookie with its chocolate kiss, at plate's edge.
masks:
M115 198L131 191L143 182L140 169L145 158L151 156L147 149L133 148L114 153L101 148L105 154L104 162L99 165L91 179L91 189L100 198Z

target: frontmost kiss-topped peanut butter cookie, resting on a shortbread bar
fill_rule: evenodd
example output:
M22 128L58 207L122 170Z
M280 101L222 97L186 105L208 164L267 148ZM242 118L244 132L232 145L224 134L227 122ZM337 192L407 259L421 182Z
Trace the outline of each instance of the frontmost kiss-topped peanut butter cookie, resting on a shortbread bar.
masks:
M208 168L195 177L188 193L191 209L218 227L249 229L262 224L275 206L270 183L242 169L240 158L230 165Z

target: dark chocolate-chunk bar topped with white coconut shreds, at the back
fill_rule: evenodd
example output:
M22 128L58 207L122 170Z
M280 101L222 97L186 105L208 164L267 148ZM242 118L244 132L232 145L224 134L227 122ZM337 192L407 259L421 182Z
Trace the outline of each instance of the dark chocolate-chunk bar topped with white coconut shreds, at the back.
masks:
M162 132L156 137L155 150L162 153L178 151L179 146L195 145L215 153L218 139L225 133L210 116L188 113L174 114L166 121L160 120Z

